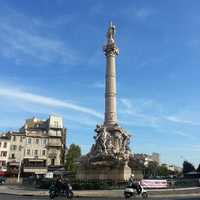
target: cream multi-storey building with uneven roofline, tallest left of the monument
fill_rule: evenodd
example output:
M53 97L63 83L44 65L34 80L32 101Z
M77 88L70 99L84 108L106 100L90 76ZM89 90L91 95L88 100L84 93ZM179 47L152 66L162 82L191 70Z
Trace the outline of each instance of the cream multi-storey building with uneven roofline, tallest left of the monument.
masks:
M46 174L64 165L66 129L63 119L27 119L18 132L7 133L10 149L7 160L10 174Z

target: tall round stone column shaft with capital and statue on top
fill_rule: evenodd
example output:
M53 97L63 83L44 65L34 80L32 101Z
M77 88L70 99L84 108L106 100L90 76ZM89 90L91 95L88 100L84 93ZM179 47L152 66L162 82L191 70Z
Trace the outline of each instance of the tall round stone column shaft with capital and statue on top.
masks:
M115 36L115 26L113 26L112 23L110 23L107 32L107 44L103 48L106 56L104 125L107 127L117 123L115 58L119 54L119 49L115 45L114 36Z

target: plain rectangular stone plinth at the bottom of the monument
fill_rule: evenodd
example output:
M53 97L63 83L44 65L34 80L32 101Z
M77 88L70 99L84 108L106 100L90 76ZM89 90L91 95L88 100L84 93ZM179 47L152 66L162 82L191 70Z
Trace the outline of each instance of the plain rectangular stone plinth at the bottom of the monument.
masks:
M127 181L131 175L131 168L125 164L120 166L91 166L80 168L77 173L79 180L112 180Z

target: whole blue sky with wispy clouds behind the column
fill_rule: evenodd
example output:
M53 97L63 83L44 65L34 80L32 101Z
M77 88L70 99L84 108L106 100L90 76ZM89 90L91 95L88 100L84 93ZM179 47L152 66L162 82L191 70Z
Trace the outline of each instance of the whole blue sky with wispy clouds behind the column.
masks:
M200 162L198 0L0 0L0 130L64 117L88 152L103 122L105 57L116 25L117 106L133 152Z

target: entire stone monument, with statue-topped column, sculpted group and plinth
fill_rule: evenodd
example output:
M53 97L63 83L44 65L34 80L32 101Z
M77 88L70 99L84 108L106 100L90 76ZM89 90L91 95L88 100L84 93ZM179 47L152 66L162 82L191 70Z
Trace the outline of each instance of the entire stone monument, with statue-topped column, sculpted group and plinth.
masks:
M119 126L116 108L116 56L119 49L115 43L115 26L110 23L107 44L103 47L106 56L105 118L96 125L95 143L90 152L82 156L78 179L128 180L131 169L129 161L130 135Z

